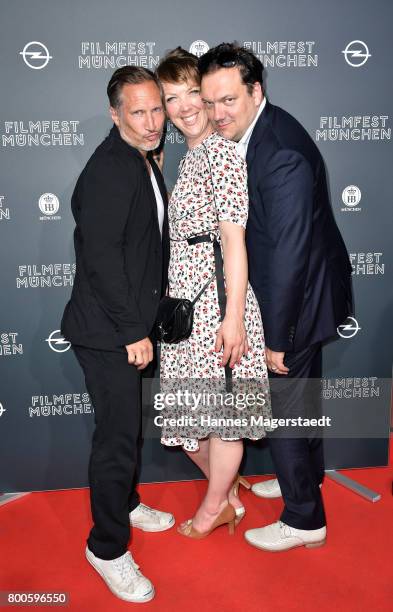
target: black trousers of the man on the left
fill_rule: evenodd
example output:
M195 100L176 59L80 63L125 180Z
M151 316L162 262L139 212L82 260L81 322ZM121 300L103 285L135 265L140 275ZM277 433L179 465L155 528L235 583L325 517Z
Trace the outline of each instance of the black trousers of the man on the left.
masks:
M128 513L139 504L141 375L128 364L126 352L72 348L95 413L89 461L94 525L87 544L96 557L116 559L127 550Z

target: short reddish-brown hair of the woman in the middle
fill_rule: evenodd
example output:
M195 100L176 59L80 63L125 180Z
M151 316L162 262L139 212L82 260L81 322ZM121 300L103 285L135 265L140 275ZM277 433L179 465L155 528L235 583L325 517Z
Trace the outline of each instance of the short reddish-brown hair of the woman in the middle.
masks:
M198 70L198 58L182 47L176 47L162 58L156 75L164 83L186 83L194 81L197 85L201 83Z

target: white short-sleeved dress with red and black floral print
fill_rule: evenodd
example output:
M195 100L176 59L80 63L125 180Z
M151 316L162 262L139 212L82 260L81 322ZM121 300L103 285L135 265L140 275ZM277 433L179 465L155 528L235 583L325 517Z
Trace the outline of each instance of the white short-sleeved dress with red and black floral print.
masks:
M210 164L209 164L210 162ZM214 194L213 194L214 190ZM219 238L219 221L246 227L248 216L247 166L238 155L235 144L216 132L200 145L189 149L179 167L179 176L169 207L171 253L168 273L168 294L193 300L214 274L213 246L209 242L189 245L187 238L213 233ZM180 379L225 379L220 366L222 353L214 352L216 332L221 324L215 278L195 304L191 336L178 344L161 343L160 379L173 383ZM248 355L233 368L233 379L253 379L268 384L265 342L259 305L250 285L247 289L245 327L249 343ZM264 409L269 416L269 409ZM263 437L258 434L236 435L233 430L225 439ZM182 445L187 450L199 448L195 438L182 438L176 427L163 427L161 442L168 446ZM222 436L224 438L224 436Z

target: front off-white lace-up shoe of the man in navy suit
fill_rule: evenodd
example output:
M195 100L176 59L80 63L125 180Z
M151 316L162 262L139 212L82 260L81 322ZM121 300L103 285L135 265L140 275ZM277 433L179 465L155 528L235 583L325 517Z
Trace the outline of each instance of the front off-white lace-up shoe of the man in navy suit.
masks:
M249 529L244 537L247 542L256 548L278 552L289 550L296 546L316 548L326 541L326 527L320 529L296 529L277 521L259 529Z

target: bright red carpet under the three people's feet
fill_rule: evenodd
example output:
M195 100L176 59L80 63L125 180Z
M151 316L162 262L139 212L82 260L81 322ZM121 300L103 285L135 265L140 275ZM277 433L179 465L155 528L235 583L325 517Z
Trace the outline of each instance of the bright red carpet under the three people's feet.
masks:
M393 471L345 474L380 492L382 499L372 504L327 478L328 541L321 548L267 553L246 544L245 529L276 520L282 502L258 499L244 489L247 515L235 536L225 528L200 541L175 529L135 530L134 557L156 587L155 599L143 609L393 610ZM185 482L143 485L141 493L145 503L183 520L192 516L204 489L204 482ZM70 605L59 608L67 610L140 607L115 598L85 561L89 521L87 490L34 493L0 507L0 590L67 591Z

